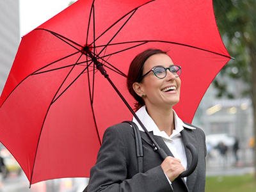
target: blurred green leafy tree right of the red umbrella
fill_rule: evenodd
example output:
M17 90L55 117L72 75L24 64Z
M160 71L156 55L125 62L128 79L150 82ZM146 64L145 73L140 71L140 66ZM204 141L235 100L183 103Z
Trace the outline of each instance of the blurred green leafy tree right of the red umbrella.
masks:
M213 4L223 42L230 55L236 58L221 70L221 76L241 79L248 84L248 90L243 94L251 97L253 119L256 120L256 2L255 0L213 0ZM214 85L219 90L218 96L234 97L234 93L225 89L226 83L218 79L214 81ZM254 132L256 138L256 121Z

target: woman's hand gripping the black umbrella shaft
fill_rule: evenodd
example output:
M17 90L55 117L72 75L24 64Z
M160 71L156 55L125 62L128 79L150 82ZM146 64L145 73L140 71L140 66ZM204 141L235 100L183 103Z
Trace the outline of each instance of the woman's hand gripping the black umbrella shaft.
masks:
M161 167L171 182L176 179L180 173L185 171L184 166L180 163L180 159L168 156L164 159Z

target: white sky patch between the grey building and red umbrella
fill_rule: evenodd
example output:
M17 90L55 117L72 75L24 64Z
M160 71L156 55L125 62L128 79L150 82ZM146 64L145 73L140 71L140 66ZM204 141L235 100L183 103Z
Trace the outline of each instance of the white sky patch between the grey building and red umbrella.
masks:
M72 0L19 0L20 36L40 26L67 8Z

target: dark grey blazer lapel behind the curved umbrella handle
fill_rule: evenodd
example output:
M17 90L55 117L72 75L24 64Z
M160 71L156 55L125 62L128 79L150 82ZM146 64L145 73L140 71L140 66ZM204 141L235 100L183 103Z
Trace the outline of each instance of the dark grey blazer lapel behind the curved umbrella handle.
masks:
M189 149L186 148L186 145L188 143L191 143L192 145L195 146L195 148L197 148L196 138L193 131L191 131L190 129L186 129L185 127L184 127L184 130L180 132L180 134L182 136L182 141L184 143L188 167L189 167L191 165L192 155ZM195 169L195 171L191 175L189 175L187 178L187 185L188 185L189 191L193 191L195 181L196 181L196 175L197 175L197 169Z

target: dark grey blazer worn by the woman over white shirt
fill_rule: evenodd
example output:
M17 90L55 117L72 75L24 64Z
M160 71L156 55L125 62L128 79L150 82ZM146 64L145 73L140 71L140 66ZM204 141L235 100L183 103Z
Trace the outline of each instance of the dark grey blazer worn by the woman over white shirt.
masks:
M90 172L88 192L201 192L205 190L206 147L205 134L202 129L184 127L184 130L180 132L185 146L186 143L192 143L196 147L198 165L195 172L189 175L187 182L179 177L173 180L173 189L161 168L163 159L152 149L152 141L147 134L142 131L140 133L144 152L144 173L138 173L137 170L136 145L132 127L129 124L113 125L104 133L97 163ZM168 156L173 156L161 137L153 134L152 136ZM186 148L186 156L189 167L191 153L188 148Z

